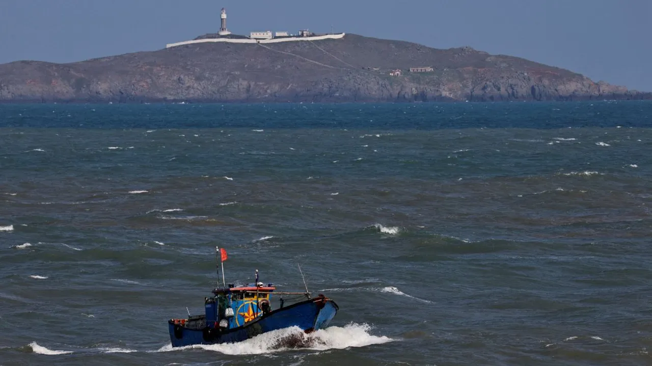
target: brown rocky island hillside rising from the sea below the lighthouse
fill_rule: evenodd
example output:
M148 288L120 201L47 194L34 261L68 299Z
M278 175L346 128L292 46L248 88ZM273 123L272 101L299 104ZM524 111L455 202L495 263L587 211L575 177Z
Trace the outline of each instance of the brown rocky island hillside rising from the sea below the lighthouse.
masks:
M432 72L409 72L431 66ZM401 76L390 76L391 70ZM0 102L406 102L642 99L650 93L472 48L346 35L205 43L54 64L0 65Z

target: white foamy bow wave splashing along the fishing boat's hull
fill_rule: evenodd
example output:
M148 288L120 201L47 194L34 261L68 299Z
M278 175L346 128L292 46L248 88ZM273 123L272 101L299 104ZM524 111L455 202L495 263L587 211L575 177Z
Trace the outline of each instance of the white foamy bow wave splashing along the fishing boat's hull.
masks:
M331 350L349 347L364 347L380 345L394 341L385 335L372 335L368 324L351 323L344 327L331 326L306 334L299 327L268 331L246 341L238 343L222 343L220 345L193 345L173 348L168 344L156 352L170 352L201 348L203 350L220 352L228 355L269 354L289 349Z

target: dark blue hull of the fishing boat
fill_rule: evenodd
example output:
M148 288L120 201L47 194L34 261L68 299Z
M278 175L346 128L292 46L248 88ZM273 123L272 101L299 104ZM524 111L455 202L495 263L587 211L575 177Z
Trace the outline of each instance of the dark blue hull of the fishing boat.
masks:
M306 332L326 328L335 317L338 306L333 300L313 298L271 311L269 314L228 330L203 327L191 329L168 322L173 347L235 343L267 331L297 326Z

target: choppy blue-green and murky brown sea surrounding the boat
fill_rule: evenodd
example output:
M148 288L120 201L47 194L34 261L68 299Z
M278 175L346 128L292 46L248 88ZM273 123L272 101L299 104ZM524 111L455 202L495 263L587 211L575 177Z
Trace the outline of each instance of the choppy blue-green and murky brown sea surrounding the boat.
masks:
M0 365L650 365L652 103L0 105ZM216 283L329 328L171 348ZM276 302L273 302L276 306Z

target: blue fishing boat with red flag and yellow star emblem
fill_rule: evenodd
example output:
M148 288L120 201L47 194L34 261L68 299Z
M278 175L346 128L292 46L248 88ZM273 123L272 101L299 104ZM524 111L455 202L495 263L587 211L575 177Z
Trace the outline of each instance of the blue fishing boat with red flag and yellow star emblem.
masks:
M307 285L305 292L276 291L273 283L259 281L258 270L254 283L226 285L224 248L216 248L216 259L222 266L222 287L218 285L211 296L204 298L204 314L191 316L188 311L188 318L168 321L173 347L235 343L292 326L310 333L326 328L339 309L323 294L312 297ZM276 309L272 307L273 295L280 296Z

